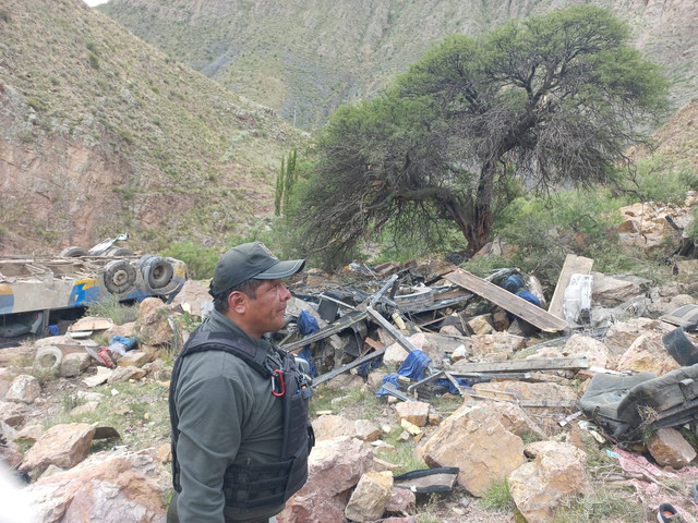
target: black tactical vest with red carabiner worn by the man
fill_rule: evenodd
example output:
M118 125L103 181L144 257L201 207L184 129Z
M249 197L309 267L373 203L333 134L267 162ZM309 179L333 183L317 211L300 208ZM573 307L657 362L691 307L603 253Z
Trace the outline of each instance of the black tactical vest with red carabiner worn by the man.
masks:
M277 506L288 500L308 479L308 454L315 443L308 419L308 403L312 396L309 378L301 373L293 357L274 346L279 360L260 350L253 341L229 332L194 331L174 362L170 381L169 410L172 425L172 485L181 492L180 467L177 460L179 418L174 408L177 381L184 357L196 352L224 351L243 360L250 367L269 379L269 393L284 404L284 442L280 461L264 464L232 464L226 469L222 491L226 507L253 509Z

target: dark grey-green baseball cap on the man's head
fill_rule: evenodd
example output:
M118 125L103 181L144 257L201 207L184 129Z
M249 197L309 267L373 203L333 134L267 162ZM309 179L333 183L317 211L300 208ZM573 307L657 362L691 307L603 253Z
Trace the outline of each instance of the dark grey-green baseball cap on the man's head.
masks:
M261 242L243 243L220 257L208 292L216 296L250 278L257 280L286 278L301 270L304 265L304 259L280 262Z

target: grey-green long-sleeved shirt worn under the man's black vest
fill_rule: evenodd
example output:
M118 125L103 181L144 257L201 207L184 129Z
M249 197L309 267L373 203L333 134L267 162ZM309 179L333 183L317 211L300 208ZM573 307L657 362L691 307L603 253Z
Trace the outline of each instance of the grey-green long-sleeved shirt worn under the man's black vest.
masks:
M201 329L228 331L273 354L272 344L245 335L214 311ZM270 518L284 509L225 507L222 478L232 464L274 463L281 455L284 416L272 384L241 358L222 351L184 358L174 391L179 417L177 457L181 492L172 498L180 523L229 523Z

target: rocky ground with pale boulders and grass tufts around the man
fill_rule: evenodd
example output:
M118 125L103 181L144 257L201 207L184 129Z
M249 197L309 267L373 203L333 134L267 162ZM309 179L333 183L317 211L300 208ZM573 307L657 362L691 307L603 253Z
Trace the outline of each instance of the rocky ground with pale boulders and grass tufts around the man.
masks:
M664 210L653 212L654 218L646 207L628 208L622 241L661 245ZM387 264L371 277L380 287L401 268ZM443 268L440 262L420 270ZM691 419L662 429L649 425L630 445L615 441L579 411L579 400L600 375L686 373L678 408L698 398L695 370L682 367L663 342L682 323L676 311L698 304L696 273L695 259L676 263L674 280L660 287L592 272L592 324L557 333L524 329L488 300L449 305L442 311L444 320L421 329L398 316L387 318L389 328L369 321L361 349L386 348L383 364L365 379L352 369L315 388L317 443L309 482L279 521L635 523L657 521L660 504L672 503L683 521L697 522L698 434ZM349 280L311 269L293 290L349 292L356 288ZM71 325L65 335L0 350L0 457L14 470L3 471L0 481L21 476L15 489L0 488L0 516L165 521L171 496L172 361L207 297L205 283L189 281L171 305L147 299L130 311L134 321L116 325L108 317L117 314L104 314ZM289 302L288 312L303 308L309 306L301 300ZM473 365L489 366L485 373L497 365L531 369L516 379L471 382L460 393L421 387L408 401L378 398L386 375L408 356L392 331L425 354L432 372L472 372ZM137 345L107 362L100 351L113 336L133 336ZM693 332L687 337L698 341ZM340 332L327 343L346 349L348 336ZM345 354L341 363L351 360ZM556 366L561 361L566 366ZM328 372L334 362L325 363ZM397 384L405 394L414 380L402 377ZM651 421L658 412L641 414ZM400 474L434 467L458 467L445 492L395 488ZM29 511L36 520L28 519Z

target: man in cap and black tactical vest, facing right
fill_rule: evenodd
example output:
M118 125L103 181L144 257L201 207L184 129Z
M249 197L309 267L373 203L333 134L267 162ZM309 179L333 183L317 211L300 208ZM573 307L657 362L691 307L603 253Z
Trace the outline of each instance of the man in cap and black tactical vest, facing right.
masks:
M209 289L214 312L172 370L168 523L275 521L305 482L310 384L292 357L263 339L286 323L291 294L281 278L304 264L280 262L258 242L218 260ZM291 401L297 404L288 406Z

